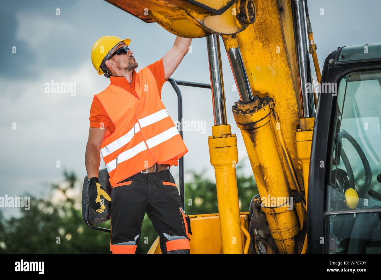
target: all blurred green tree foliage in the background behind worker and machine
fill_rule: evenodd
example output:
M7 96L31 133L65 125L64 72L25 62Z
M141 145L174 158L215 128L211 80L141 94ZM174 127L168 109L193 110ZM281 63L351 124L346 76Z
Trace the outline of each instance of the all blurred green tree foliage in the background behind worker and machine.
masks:
M248 211L258 190L253 176L245 177L237 169L240 211ZM202 174L192 175L192 182L184 186L187 214L218 213L215 183ZM88 228L82 221L80 195L70 196L76 183L75 174L65 171L64 182L52 184L46 197L25 195L30 196L29 211L21 209L19 217L9 219L0 211L0 253L109 253L110 234ZM110 221L98 226L110 228ZM147 253L157 236L146 215L136 253Z

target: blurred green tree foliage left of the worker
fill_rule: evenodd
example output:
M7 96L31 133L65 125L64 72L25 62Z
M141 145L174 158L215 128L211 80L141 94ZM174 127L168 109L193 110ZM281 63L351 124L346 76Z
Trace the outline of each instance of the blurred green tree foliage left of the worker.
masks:
M77 177L64 172L66 184L52 184L45 198L30 196L30 210L0 218L0 253L107 253L109 234L85 226L80 197L70 198ZM63 185L63 186L62 186ZM57 203L54 198L61 195Z

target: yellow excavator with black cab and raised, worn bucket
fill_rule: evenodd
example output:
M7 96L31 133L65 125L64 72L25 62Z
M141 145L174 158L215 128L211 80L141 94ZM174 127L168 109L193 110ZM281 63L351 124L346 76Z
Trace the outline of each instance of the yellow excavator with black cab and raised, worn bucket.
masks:
M342 46L320 72L307 0L106 0L172 34L206 37L214 125L208 137L218 211L187 215L191 254L381 253L381 43ZM221 36L237 86L227 111ZM317 81L312 80L310 54ZM240 212L237 137L245 143L259 194ZM206 139L205 139L206 141ZM106 211L89 211L92 229ZM106 170L99 181L110 191ZM184 205L184 169L179 160ZM148 253L161 253L158 239Z

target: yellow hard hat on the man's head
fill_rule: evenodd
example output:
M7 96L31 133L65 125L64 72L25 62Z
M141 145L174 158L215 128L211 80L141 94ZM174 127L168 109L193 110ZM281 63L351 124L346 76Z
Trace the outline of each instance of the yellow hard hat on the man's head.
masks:
M104 74L101 64L103 60L107 60L109 56L114 52L115 47L119 43L125 43L127 46L130 45L130 39L122 39L117 36L103 36L96 40L93 47L91 48L91 62L95 70L98 71L99 75ZM106 59L105 59L106 58Z

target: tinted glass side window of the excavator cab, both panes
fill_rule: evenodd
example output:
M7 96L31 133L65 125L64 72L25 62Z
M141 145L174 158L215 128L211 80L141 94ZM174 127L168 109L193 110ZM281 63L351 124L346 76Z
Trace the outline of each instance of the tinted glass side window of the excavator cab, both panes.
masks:
M325 207L329 251L381 253L381 70L346 74L337 94Z

